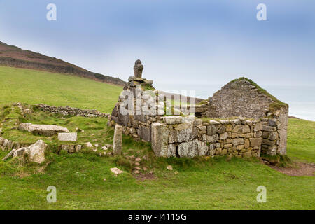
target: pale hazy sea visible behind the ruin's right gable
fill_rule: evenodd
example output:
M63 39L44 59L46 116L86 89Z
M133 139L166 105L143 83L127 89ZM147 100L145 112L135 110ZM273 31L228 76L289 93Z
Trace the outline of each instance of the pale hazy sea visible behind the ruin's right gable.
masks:
M179 88L180 86L180 88ZM190 94L195 92L195 97L207 99L212 97L214 92L221 89L223 85L174 85L172 83L157 83L155 87L165 92L180 94ZM261 86L277 99L289 105L289 116L294 116L304 120L315 121L315 86Z

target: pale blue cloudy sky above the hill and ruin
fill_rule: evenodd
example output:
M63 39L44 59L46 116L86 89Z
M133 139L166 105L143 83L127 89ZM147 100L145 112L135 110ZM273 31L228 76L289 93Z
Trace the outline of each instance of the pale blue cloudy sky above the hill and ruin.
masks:
M48 21L48 3L57 20ZM259 3L267 20L258 21ZM0 41L127 80L136 59L158 87L315 85L315 1L0 0Z

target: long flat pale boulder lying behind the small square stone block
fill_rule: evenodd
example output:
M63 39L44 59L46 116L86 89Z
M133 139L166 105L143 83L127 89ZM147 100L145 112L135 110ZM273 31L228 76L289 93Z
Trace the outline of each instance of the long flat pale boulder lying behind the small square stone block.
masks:
M69 132L69 130L66 127L58 125L34 125L31 123L22 123L19 125L18 129L44 136L52 136L59 132Z

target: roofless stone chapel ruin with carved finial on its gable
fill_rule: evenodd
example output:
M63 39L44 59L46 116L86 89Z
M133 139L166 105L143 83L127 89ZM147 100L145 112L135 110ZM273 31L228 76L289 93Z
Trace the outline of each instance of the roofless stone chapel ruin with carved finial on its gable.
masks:
M286 155L288 105L253 81L232 80L199 104L181 96L174 105L153 80L142 78L143 69L137 60L108 125L151 142L156 156Z

